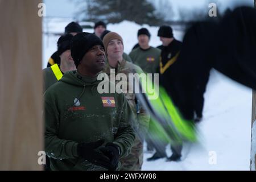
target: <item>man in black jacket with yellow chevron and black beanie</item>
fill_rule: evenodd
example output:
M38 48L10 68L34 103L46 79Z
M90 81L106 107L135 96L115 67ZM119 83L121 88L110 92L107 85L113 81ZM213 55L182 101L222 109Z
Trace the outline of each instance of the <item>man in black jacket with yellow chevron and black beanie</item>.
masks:
M166 89L166 92L171 97L175 106L179 104L178 92L176 88L176 73L181 72L179 65L177 65L176 60L179 56L181 49L181 42L174 38L172 33L172 28L170 26L161 26L158 30L158 36L162 41L163 45L159 48L162 49L160 55L160 64L159 64L159 85L163 86ZM150 132L150 131L149 131ZM148 161L156 160L160 158L165 158L166 155L166 146L167 143L159 141L154 141L157 143L155 149L155 154L148 158ZM180 144L173 144L171 146L172 155L170 158L167 158L167 161L179 161L181 158L181 149Z

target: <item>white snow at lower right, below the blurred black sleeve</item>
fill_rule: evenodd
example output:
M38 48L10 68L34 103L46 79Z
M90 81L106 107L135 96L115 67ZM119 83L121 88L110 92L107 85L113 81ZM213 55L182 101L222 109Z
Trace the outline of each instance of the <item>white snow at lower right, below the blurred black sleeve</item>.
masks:
M200 143L185 143L178 163L147 162L152 154L146 153L143 170L250 169L251 89L213 70L204 97L204 118L197 124Z

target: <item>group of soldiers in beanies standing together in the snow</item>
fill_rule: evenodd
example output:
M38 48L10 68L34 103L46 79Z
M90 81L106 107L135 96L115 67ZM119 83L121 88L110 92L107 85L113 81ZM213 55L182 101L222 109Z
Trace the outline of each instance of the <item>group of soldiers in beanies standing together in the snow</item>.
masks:
M111 69L115 75L159 73L159 84L174 104L179 102L172 78L182 43L174 38L170 26L161 26L158 36L162 46L152 47L150 32L139 29L138 44L127 55L122 36L106 30L102 21L95 23L93 34L82 32L76 22L65 27L57 51L43 69L46 169L141 170L144 139L148 150L155 149L148 161L180 160L181 144L172 145L172 155L167 157L168 143L155 144L150 137L154 127L150 114L135 93L97 92L97 76L106 73L110 77ZM202 110L203 105L195 121L201 120Z

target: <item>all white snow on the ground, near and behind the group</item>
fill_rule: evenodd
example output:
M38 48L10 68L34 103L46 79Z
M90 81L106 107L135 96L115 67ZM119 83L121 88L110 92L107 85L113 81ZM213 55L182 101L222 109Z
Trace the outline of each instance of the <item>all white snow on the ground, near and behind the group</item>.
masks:
M69 23L53 21L48 23L45 31L64 32ZM118 32L123 38L125 52L130 53L137 43L137 31L146 27L151 33L151 46L161 44L158 27L139 26L133 22L123 21L108 24L108 30ZM84 30L93 32L92 29ZM183 32L174 30L174 36L182 40ZM49 56L56 51L59 36L43 35L43 63L45 68ZM197 124L200 142L184 144L181 162L165 162L159 159L147 162L152 154L144 152L143 170L249 170L251 137L251 89L246 88L212 71L205 93L203 121ZM170 146L167 146L170 156Z

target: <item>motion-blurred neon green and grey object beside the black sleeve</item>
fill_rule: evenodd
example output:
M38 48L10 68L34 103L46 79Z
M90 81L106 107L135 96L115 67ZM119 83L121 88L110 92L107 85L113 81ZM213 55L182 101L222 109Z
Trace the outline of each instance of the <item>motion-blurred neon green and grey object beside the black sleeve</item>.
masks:
M154 126L148 131L151 137L171 144L180 144L184 141L196 142L197 132L194 122L182 117L164 88L159 86L158 89L155 87L158 84L153 84L150 79L140 78L139 86L143 92L137 94L137 98L150 113ZM148 92L148 90L154 90L154 92ZM156 94L158 97L148 99L150 98L148 96L152 96L152 94Z

